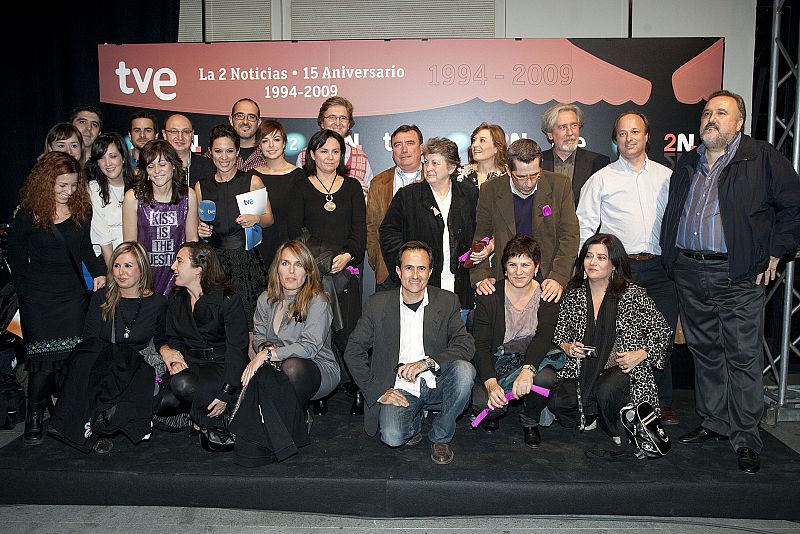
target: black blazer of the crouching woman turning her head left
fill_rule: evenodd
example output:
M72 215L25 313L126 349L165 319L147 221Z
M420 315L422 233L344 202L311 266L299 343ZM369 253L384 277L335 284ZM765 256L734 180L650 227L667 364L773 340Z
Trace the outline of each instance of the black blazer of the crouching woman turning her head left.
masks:
M247 317L242 298L222 287L212 288L195 303L192 312L191 296L180 288L169 302L167 311L167 345L183 354L192 365L224 365L225 384L241 387L242 372L247 366ZM210 359L204 359L197 349L213 349ZM231 402L224 384L216 398Z

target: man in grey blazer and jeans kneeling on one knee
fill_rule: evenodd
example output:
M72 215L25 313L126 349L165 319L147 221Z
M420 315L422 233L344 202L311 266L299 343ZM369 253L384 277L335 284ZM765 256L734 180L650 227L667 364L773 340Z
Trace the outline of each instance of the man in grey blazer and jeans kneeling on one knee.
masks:
M428 287L433 253L421 241L400 248L400 288L370 296L344 353L364 393L364 429L390 447L422 439L422 412L441 405L428 439L431 459L453 460L456 419L469 401L475 342L455 294ZM369 350L372 349L372 357Z

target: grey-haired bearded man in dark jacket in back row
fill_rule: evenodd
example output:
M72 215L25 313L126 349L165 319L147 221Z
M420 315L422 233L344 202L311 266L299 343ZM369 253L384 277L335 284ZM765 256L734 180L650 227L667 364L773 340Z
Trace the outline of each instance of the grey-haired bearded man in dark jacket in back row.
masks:
M556 102L542 115L542 133L553 144L542 152L542 168L572 179L576 206L586 180L611 163L608 156L578 147L581 128L583 110L575 104Z

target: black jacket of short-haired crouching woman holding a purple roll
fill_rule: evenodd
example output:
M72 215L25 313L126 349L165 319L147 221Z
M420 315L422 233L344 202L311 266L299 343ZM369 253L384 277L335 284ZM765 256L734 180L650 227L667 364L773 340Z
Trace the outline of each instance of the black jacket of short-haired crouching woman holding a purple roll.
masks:
M494 353L503 344L506 333L505 284L498 283L491 295L478 295L475 306L475 319L472 335L475 338L475 358L472 363L481 383L489 378L497 378L494 368ZM558 322L559 304L541 301L539 303L539 324L525 351L525 363L538 369L547 352L554 347L553 332Z

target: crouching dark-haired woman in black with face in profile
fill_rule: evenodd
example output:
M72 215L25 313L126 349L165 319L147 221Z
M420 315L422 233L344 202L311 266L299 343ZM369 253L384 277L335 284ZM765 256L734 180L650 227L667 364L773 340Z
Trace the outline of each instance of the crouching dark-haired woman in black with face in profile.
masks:
M156 413L188 412L196 426L223 428L248 360L244 304L206 243L184 243L172 270L178 290L169 301L167 343L159 349L169 375Z

